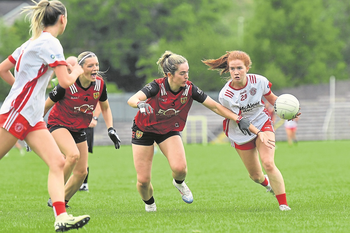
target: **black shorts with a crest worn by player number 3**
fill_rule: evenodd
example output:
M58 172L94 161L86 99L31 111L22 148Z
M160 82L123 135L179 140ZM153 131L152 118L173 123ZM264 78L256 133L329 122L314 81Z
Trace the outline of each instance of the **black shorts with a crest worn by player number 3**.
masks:
M154 142L159 144L162 141L165 141L165 139L170 138L172 136L175 136L175 135L180 136L179 131L170 131L169 133L166 133L166 134L143 132L142 130L140 130L139 127L137 127L135 122L131 129L132 129L131 143L135 145L140 145L140 146L152 146Z

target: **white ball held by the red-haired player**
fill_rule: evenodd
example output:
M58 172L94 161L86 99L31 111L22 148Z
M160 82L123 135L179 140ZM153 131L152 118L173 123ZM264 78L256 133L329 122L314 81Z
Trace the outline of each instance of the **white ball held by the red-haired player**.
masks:
M281 119L290 120L293 119L299 112L299 100L294 95L283 94L278 96L273 109L275 114Z

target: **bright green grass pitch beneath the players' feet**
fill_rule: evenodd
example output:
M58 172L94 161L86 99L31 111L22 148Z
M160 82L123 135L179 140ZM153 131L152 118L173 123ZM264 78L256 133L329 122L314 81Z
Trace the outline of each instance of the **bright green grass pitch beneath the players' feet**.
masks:
M131 146L94 147L90 192L78 192L73 215L90 214L84 232L350 232L350 141L277 143L275 162L291 211L248 177L236 151L224 145L187 145L186 204L173 187L166 158L154 156L157 212L146 213L136 190ZM48 168L33 152L13 149L0 162L0 232L54 232L47 206ZM75 232L75 230L72 230Z

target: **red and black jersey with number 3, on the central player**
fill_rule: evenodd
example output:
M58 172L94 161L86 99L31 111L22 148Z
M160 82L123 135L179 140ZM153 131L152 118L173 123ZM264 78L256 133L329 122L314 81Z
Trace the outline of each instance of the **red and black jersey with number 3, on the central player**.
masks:
M138 111L135 124L145 132L159 134L182 131L193 100L203 103L208 96L190 81L174 93L166 77L155 79L141 90L148 98L146 103L154 110L153 114L147 116Z

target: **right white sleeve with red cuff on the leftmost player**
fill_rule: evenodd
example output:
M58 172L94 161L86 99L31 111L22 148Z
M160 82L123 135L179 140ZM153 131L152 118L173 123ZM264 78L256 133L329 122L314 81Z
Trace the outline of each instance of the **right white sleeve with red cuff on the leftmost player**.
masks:
M41 47L39 56L50 67L67 65L64 58L62 45L56 38L45 41L44 45Z

